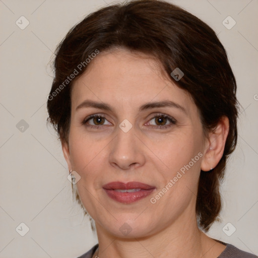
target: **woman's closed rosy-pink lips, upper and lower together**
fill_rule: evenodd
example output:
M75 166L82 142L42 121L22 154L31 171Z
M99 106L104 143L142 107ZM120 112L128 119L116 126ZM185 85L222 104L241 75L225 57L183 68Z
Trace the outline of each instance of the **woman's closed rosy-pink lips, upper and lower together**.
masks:
M124 204L137 202L151 194L155 186L141 182L110 182L103 185L107 196L114 201Z

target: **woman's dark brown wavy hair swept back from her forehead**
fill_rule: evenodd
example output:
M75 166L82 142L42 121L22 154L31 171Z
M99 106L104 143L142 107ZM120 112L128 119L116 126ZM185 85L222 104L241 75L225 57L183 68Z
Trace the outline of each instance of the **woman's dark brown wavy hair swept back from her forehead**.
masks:
M222 116L229 118L223 157L212 171L201 171L199 179L196 214L199 227L209 230L221 210L219 185L227 157L237 141L236 81L224 47L206 23L164 1L132 1L88 15L56 48L55 76L47 109L48 122L61 141L68 143L73 82L87 69L86 59L92 59L92 53L113 47L156 58L169 76L179 68L184 76L179 81L170 78L190 93L199 109L204 132L212 130ZM68 77L75 71L76 78L70 82Z

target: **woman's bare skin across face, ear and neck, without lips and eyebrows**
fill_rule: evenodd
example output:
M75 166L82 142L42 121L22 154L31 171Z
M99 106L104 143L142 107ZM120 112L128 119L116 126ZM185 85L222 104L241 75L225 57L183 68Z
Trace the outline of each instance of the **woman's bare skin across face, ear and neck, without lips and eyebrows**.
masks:
M198 229L195 206L200 170L214 168L223 155L228 118L223 117L205 137L190 95L163 73L158 61L125 49L99 53L74 82L71 98L69 142L62 141L62 150L69 169L81 176L77 188L96 223L96 254L100 258L218 257L226 246ZM76 109L85 100L107 103L113 110ZM147 102L164 100L175 102L185 112L168 106L139 111ZM83 124L92 114L105 118ZM155 120L160 114L173 117L176 123ZM119 128L124 119L133 125L127 133ZM163 124L171 126L160 128ZM202 157L152 204L150 198L198 153ZM102 188L111 181L140 181L156 189L138 202L122 204ZM127 235L119 230L124 223L132 229Z

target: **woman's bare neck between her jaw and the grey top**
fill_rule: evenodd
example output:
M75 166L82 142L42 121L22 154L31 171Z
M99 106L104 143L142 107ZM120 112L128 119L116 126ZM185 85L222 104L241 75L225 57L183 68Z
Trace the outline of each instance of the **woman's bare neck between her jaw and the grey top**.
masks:
M200 231L196 220L176 221L160 232L145 237L115 237L97 223L96 229L99 248L93 257L97 255L99 258L213 258L218 257L225 248Z

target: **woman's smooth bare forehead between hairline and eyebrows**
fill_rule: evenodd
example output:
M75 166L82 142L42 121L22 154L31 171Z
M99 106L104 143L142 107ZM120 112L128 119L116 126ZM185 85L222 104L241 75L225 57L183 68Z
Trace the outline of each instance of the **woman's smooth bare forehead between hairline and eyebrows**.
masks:
M72 109L86 98L118 108L164 99L177 100L185 109L195 105L188 92L166 76L157 60L125 49L100 52L91 61L73 85Z

